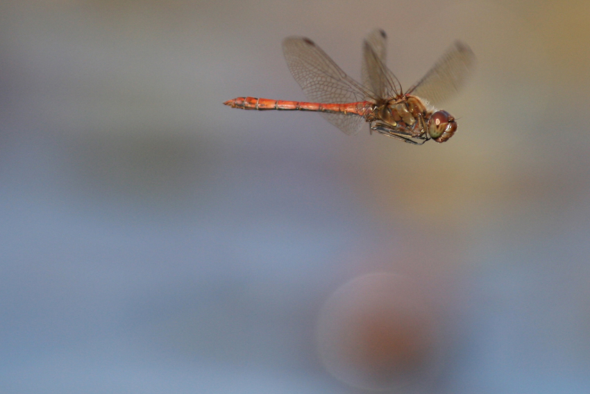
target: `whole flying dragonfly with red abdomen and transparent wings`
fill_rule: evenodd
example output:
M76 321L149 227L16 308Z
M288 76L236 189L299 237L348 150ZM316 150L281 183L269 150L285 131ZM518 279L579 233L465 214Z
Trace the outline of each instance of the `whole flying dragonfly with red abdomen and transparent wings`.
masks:
M422 79L404 90L387 65L385 31L371 31L363 43L362 84L346 75L312 40L289 37L283 53L289 71L310 101L236 97L224 102L245 110L307 110L321 113L348 135L364 122L369 131L414 145L428 140L445 142L457 131L457 122L443 101L459 92L475 66L475 55L455 41Z

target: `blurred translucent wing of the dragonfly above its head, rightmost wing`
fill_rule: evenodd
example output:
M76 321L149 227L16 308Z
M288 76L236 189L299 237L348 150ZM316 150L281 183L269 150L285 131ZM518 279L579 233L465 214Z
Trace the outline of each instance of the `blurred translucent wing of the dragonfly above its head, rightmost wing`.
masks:
M416 85L407 91L438 106L453 97L475 68L475 55L464 43L456 41Z

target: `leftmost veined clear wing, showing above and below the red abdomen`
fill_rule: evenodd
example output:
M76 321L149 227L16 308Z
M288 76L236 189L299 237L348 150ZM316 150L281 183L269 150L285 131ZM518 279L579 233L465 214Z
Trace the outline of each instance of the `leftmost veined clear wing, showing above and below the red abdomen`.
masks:
M354 103L371 99L373 93L346 75L312 40L289 37L283 41L283 53L295 81L310 101ZM331 124L348 135L358 133L364 117L322 113Z

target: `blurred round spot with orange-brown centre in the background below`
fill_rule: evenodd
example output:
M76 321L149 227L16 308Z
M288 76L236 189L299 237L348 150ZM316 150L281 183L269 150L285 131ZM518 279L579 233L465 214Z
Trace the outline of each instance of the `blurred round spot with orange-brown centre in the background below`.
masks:
M432 311L413 281L395 274L353 279L323 306L321 361L351 386L387 390L431 375L437 341Z

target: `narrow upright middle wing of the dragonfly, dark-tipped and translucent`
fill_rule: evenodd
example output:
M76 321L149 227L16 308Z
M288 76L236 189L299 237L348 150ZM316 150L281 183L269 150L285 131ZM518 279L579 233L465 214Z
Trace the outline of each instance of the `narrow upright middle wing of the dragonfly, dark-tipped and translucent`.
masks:
M385 65L387 35L376 29L366 36L362 47L362 83L376 94L376 99L391 99L401 95L401 85Z

